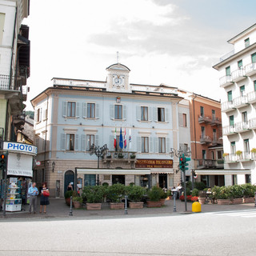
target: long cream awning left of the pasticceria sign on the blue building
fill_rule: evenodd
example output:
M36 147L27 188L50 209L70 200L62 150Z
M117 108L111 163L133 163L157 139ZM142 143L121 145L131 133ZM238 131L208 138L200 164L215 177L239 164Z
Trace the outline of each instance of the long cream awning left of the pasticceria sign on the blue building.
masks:
M146 175L150 169L85 169L77 168L78 174Z

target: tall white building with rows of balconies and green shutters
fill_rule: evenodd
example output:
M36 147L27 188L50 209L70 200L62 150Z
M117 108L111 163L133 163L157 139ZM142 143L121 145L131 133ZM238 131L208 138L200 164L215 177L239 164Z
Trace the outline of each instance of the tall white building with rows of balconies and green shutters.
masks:
M222 87L225 185L256 183L256 24L228 42L234 50L214 66Z

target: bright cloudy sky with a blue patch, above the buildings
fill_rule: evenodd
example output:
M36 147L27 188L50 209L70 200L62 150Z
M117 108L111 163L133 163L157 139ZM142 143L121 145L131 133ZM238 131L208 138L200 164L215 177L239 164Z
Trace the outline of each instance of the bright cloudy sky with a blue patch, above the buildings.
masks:
M106 81L106 67L130 68L130 83L164 83L219 100L212 66L227 40L256 23L255 0L30 1L30 100L52 78Z

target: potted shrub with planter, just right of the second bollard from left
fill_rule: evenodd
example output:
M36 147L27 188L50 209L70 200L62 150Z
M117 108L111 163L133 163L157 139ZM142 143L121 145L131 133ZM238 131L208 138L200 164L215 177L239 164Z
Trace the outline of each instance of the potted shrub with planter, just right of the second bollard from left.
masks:
M130 186L127 191L128 198L130 200L129 207L131 209L142 209L143 202L141 202L143 195L146 193L146 189L142 186Z

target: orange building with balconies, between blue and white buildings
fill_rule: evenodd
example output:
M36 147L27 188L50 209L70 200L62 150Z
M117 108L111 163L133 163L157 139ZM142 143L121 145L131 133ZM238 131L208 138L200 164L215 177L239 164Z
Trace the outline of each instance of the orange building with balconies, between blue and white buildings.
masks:
M189 102L191 170L197 174L192 181L204 182L206 186L224 184L224 160L222 158L221 104L211 98L178 90L178 95Z

